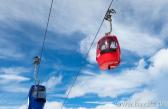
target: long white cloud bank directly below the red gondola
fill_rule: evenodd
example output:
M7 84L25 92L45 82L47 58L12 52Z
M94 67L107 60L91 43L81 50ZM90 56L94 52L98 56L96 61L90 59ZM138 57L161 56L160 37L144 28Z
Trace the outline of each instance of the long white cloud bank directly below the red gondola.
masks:
M118 76L101 73L96 76L80 77L70 97L83 96L86 93L96 93L100 97L116 97L122 93L133 92L136 87L145 84L149 81L145 76L145 72L135 69L123 71Z

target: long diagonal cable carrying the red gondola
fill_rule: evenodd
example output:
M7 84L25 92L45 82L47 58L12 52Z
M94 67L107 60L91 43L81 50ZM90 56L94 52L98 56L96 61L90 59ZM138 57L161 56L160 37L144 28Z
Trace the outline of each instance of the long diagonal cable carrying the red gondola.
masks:
M109 5L107 11L110 9L110 7L111 7L113 1L114 1L114 0L111 0L110 5ZM106 11L106 13L107 13L107 11ZM106 14L105 14L105 15L106 15ZM104 16L104 17L105 17L105 16ZM90 50L91 50L91 48L92 48L92 46L93 46L93 44L94 44L94 42L95 42L95 40L96 40L96 38L97 38L99 32L100 32L100 29L101 29L101 27L102 27L102 25L103 25L104 20L105 20L105 19L103 18L103 20L102 20L102 22L101 22L101 24L100 24L100 26L99 26L99 28L98 28L98 30L97 30L95 36L94 36L94 39L93 39L93 41L92 41L92 43L91 43L91 45L90 45L90 47L89 47L89 49L88 49L88 52L85 54L85 57L86 57L86 58L88 57L89 52L90 52ZM69 91L68 91L68 93L67 93L67 95L66 95L66 97L65 97L65 99L64 99L64 101L63 101L63 103L62 103L62 105L61 105L61 109L63 109L64 105L66 104L66 101L67 101L67 99L68 99L68 97L69 97L69 94L71 93L72 88L74 87L74 85L75 85L75 83L76 83L76 81L77 81L77 79L78 79L78 77L79 77L80 71L81 71L82 69L83 69L83 66L81 66L81 67L79 68L79 72L76 73L76 76L74 77L74 80L73 80L73 82L72 82L72 84L71 84L71 86L70 86L70 88L69 88Z

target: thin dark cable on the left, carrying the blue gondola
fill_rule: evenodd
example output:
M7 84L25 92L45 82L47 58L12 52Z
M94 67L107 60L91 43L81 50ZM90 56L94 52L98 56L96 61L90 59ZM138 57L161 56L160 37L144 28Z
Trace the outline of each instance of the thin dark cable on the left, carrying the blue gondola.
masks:
M37 68L37 71L36 71L37 76L38 76L38 72L39 72L39 69L40 69L40 64L41 64L42 57L43 57L43 52L44 52L44 47L45 47L45 42L46 42L46 37L47 37L47 32L48 32L48 26L49 26L49 23L50 23L51 12L52 12L52 8L53 8L53 3L54 3L54 0L51 0L49 14L48 14L47 22L46 22L46 28L45 28L45 31L44 31L44 38L42 40L42 45L41 45L41 50L40 50L40 57L39 57L40 62L39 62L39 65L38 65L38 68Z

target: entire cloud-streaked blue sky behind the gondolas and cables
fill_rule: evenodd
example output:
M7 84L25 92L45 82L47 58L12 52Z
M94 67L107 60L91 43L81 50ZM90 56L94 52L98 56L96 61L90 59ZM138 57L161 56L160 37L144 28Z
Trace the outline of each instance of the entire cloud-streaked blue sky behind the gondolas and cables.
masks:
M54 1L39 71L47 87L45 109L60 107L81 66L65 109L121 109L116 102L122 101L168 102L168 0L114 1L113 34L118 36L122 61L114 70L101 71L95 61L96 42L108 31L107 22L89 56L84 56L109 3ZM27 108L34 84L32 58L40 52L49 6L50 0L1 0L0 109Z

